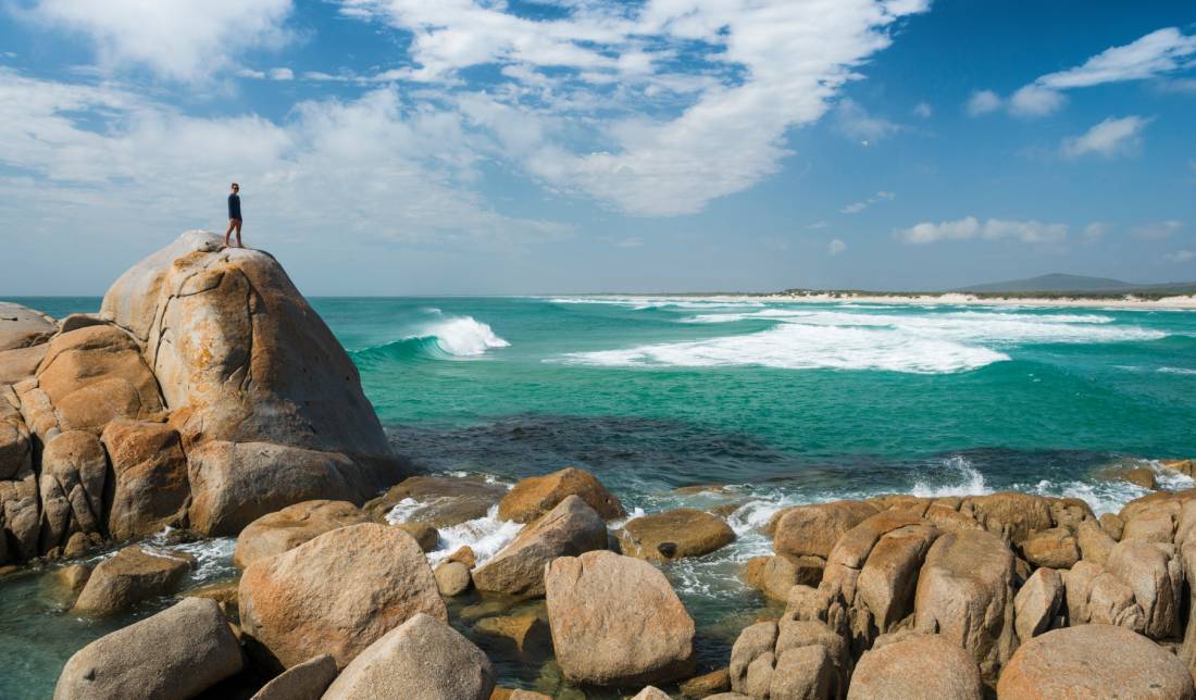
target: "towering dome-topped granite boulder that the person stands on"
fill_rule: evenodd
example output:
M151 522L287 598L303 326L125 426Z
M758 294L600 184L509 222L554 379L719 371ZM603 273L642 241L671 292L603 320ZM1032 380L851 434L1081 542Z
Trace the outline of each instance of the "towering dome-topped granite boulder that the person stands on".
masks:
M397 477L356 369L269 254L185 233L126 272L100 316L140 343L161 386L196 529L232 534L317 498L362 503ZM47 394L54 342L38 372Z

